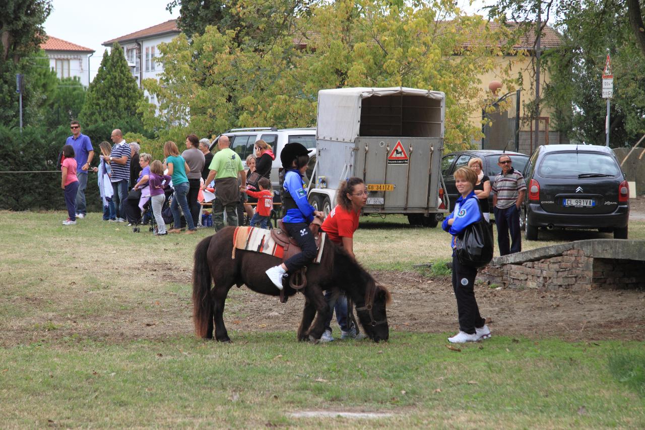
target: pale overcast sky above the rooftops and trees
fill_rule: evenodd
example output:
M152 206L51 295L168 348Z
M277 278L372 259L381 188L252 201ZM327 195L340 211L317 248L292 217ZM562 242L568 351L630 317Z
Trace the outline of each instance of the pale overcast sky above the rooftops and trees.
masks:
M474 0L472 6L469 2L457 1L463 10L483 14L481 7L494 0ZM94 79L105 52L101 43L177 18L179 8L171 15L166 10L168 3L168 0L54 0L45 31L50 36L94 49L94 56L90 58Z

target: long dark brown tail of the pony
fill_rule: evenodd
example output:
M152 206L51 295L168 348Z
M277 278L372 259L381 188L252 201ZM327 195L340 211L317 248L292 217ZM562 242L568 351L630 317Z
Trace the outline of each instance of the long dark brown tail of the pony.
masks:
M195 265L193 267L193 321L195 335L205 338L208 325L213 319L213 300L210 296L212 276L208 269L208 244L212 236L204 238L195 248Z

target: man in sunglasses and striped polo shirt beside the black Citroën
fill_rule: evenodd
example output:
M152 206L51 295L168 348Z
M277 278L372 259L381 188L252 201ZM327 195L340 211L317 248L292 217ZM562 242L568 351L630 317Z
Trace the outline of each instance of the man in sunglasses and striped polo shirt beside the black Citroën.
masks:
M520 206L526 194L526 184L521 172L513 169L511 158L502 154L497 160L502 168L493 182L493 213L497 225L499 254L514 254L522 251L520 232ZM508 234L511 234L509 246Z

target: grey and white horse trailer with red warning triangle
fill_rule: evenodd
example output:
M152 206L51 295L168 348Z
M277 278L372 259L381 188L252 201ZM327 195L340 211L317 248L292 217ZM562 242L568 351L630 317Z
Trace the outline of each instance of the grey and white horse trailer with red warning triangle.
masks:
M363 214L405 214L435 227L448 212L441 176L445 94L415 88L339 88L318 93L316 160L309 201L328 214L339 183L368 188Z

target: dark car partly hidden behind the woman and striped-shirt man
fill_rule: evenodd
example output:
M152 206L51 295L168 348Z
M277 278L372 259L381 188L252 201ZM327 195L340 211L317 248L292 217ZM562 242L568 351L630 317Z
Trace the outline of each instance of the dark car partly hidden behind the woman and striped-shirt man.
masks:
M483 162L482 172L490 178L490 185L493 186L493 181L495 181L495 176L502 171L501 167L497 165L497 160L502 154L508 155L511 158L513 169L519 170L522 172L524 166L528 162L528 155L520 154L519 152L511 151L501 151L501 150L490 150L490 149L475 149L475 150L463 150L457 152L450 152L446 154L441 159L441 174L444 177L444 183L446 183L446 192L448 192L448 198L450 199L450 208L455 207L455 201L459 198L459 192L457 192L457 187L455 187L455 178L452 174L459 167L466 166L468 167L468 161L471 158L481 158ZM490 212L493 212L493 196L492 194L488 196L488 207Z

